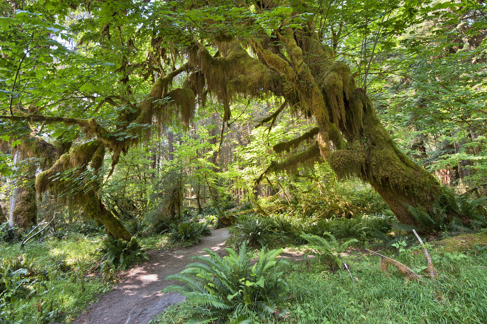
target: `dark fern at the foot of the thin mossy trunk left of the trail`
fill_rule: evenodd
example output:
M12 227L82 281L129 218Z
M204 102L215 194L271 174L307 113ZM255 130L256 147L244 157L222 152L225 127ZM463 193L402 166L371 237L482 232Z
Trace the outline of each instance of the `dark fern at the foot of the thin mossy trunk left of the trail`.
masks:
M107 237L102 241L100 250L103 253L102 261L107 261L113 268L121 270L124 270L135 260L149 260L144 249L135 240L135 237L132 237L130 242ZM106 265L107 263L104 264Z

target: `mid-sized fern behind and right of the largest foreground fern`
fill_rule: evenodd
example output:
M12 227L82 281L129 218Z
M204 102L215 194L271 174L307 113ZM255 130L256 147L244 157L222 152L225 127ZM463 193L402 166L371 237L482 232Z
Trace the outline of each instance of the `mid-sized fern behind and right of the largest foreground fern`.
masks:
M330 240L326 240L318 235L308 235L302 233L300 236L308 241L309 245L306 246L306 255L312 254L317 257L318 262L326 264L330 269L335 272L341 267L341 253L348 248L350 243L358 242L356 239L348 240L342 244L338 244L337 239L330 233L325 233L329 236Z

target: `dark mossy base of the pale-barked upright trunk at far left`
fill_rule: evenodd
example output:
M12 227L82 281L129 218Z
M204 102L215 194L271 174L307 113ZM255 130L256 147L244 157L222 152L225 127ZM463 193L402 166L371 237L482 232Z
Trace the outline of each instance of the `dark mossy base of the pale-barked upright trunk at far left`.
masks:
M28 229L37 224L37 202L34 188L20 189L12 216L14 223L21 229Z

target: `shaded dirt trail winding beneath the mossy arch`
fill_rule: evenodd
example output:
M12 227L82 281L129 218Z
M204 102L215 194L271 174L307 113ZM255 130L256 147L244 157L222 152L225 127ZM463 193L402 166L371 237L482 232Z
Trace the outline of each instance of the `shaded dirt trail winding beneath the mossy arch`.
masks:
M180 293L161 293L161 289L176 283L164 278L183 270L191 263L189 258L203 254L204 248L223 256L227 238L227 229L215 229L190 248L149 251L150 261L128 270L121 283L88 307L75 324L147 324L169 305L185 299Z

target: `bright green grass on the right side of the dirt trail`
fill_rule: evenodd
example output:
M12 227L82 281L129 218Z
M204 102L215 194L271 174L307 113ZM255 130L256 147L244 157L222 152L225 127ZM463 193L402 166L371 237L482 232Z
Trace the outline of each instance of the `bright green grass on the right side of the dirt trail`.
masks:
M356 278L353 281L346 270L335 274L323 271L313 260L308 265L298 262L282 266L279 270L285 271L290 291L280 296L280 314L274 323L487 323L487 249L455 252L430 246L429 251L439 277L435 281L425 279L424 285L406 280L396 269L385 275L379 269L378 257L356 260L362 255L358 253L344 259L351 265ZM384 253L425 275L421 250L394 252ZM184 322L185 306L169 307L152 324Z

